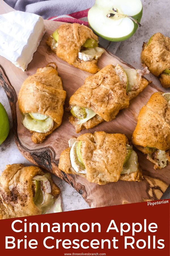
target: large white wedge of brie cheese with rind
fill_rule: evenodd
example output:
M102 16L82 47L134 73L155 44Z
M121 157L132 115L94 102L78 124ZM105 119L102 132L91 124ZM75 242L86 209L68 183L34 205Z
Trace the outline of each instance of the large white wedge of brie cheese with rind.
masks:
M0 24L0 55L24 71L45 33L42 17L13 11L0 15Z

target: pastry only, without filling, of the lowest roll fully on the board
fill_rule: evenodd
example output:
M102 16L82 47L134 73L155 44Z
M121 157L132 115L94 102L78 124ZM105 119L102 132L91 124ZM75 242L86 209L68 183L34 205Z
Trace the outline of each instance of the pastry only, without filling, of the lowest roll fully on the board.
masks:
M120 175L126 157L125 135L109 134L103 131L85 133L77 138L81 143L82 160L86 174L75 172L71 165L70 148L65 149L60 156L59 169L65 173L73 173L85 177L88 181L104 185L109 182L122 180L141 181L142 174L138 170L135 174Z

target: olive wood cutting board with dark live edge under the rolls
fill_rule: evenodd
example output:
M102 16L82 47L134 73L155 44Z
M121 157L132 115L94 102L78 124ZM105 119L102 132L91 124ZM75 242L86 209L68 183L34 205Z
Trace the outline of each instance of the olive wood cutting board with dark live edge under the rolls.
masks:
M0 0L0 3L2 1ZM12 11L13 9L5 4L0 14ZM55 62L58 66L59 76L63 81L63 88L67 92L67 98L64 108L69 106L70 96L84 84L86 77L91 75L86 71L77 69L67 62L61 60L54 54L48 46L46 39L63 24L44 20L46 33L33 55L33 60L28 65L27 71L22 71L13 65L10 61L0 56L0 84L4 88L11 107L13 129L16 145L21 154L31 161L73 186L86 200L90 207L101 207L109 205L119 205L126 203L136 203L142 201L151 201L160 199L163 192L170 183L170 165L162 170L154 170L154 165L146 159L139 150L135 149L138 154L139 165L143 170L144 180L135 181L117 181L106 185L90 183L79 175L65 174L58 169L59 157L61 152L68 147L68 141L71 137L78 137L83 133L94 133L95 131L105 131L107 133L123 133L129 141L137 124L137 116L150 96L160 89L154 84L149 85L136 98L130 101L127 109L121 110L116 118L109 122L103 122L93 129L82 130L76 134L75 127L69 122L69 113L64 111L63 120L57 128L42 144L34 144L31 141L31 133L21 124L21 114L18 108L17 96L24 80L34 73L37 68L45 67L49 62ZM122 67L131 67L128 63L119 59L109 51L105 51L98 61L99 68L107 64L116 65L119 63Z

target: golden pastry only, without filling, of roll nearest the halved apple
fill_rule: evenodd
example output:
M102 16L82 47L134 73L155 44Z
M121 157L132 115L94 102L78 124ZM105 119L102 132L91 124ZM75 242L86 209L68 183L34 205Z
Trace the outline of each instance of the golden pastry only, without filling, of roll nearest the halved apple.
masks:
M67 61L70 65L74 65L75 67L92 74L95 74L100 70L97 67L98 59L82 61L77 58L81 46L88 38L93 38L98 41L98 36L96 36L90 28L77 23L62 24L58 28L58 33L59 38L56 49L52 47L51 36L49 36L46 44L50 46L52 51L54 51L59 58Z

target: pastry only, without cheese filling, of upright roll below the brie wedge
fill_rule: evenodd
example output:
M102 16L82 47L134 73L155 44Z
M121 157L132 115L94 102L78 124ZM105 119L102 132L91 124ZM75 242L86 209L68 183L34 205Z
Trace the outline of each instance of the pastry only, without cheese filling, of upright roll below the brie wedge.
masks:
M52 67L37 69L37 73L24 81L18 94L20 112L40 113L54 120L53 128L47 133L31 131L34 143L42 143L47 135L61 125L65 98L61 77Z

